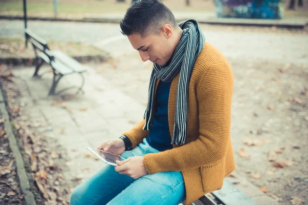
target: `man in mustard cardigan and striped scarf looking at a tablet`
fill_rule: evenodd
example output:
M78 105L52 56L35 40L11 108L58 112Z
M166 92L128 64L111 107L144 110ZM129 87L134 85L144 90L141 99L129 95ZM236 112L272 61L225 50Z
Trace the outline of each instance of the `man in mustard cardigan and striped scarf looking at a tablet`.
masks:
M71 204L190 204L221 189L235 169L227 60L195 20L177 24L158 0L134 3L120 26L153 62L148 106L138 125L98 147L126 159L76 187Z

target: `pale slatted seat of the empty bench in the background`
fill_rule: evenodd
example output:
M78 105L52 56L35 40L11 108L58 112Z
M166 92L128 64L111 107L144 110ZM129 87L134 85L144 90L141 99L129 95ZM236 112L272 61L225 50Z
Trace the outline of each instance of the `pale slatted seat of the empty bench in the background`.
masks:
M86 69L75 59L68 56L66 53L63 53L62 51L51 51L52 55L60 60L63 64L67 65L70 69L72 69L74 72L81 73L85 72Z

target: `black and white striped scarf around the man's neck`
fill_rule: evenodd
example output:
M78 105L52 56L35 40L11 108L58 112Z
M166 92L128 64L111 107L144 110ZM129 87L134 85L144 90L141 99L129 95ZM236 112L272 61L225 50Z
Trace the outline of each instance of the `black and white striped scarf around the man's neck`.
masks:
M148 105L144 113L144 130L150 130L151 120L154 116L152 105L154 102L157 79L171 83L180 72L176 96L175 127L172 136L172 145L184 145L187 135L188 86L195 60L202 50L205 42L204 35L196 20L186 20L178 24L183 29L180 42L172 55L168 66L154 64L148 94Z

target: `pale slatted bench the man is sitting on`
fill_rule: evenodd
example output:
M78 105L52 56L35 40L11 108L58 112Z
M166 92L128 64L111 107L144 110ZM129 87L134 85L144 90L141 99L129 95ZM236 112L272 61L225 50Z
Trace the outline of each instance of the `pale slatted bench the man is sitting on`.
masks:
M185 204L185 201L182 202ZM254 200L241 192L233 183L224 180L221 190L200 197L192 205L258 205Z

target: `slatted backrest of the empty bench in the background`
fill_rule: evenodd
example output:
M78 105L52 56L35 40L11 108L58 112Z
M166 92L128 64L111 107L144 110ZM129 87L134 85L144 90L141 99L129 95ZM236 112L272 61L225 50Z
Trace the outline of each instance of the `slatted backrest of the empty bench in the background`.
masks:
M50 60L53 60L53 56L52 56L52 54L49 50L49 47L48 47L46 41L43 38L36 35L32 31L30 31L29 29L25 29L25 34L26 34L27 40L29 40L31 42L31 44L34 48L34 52L35 52L36 57L38 56L36 49L38 49L41 52L43 52L44 54L46 54L49 57Z

